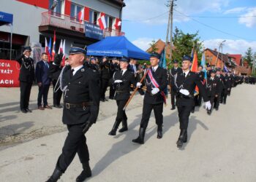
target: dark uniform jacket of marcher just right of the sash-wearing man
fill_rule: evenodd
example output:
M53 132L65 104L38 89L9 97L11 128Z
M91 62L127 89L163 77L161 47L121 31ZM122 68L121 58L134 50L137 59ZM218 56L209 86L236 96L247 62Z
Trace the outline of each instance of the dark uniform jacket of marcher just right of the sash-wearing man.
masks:
M194 101L194 93L195 93L195 86L199 88L200 95L202 95L203 100L206 102L208 101L208 96L206 94L206 88L203 86L202 82L199 79L199 76L189 71L187 77L183 76L183 73L176 74L176 79L173 80L174 90L176 91L176 105L177 106L195 106ZM182 95L179 90L185 89L189 91L189 96Z

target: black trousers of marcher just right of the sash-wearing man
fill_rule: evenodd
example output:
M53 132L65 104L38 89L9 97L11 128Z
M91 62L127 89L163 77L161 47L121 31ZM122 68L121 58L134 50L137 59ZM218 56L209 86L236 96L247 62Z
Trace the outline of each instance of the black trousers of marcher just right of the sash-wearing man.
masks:
M181 130L187 130L189 125L189 115L193 106L178 106L179 127Z

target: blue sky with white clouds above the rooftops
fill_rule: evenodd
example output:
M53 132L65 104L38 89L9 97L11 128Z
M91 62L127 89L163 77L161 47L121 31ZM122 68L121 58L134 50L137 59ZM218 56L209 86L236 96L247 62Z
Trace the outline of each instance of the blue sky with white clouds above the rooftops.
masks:
M122 31L142 50L151 41L165 41L167 0L124 0ZM184 33L199 31L204 47L214 50L224 41L223 53L256 52L256 0L177 0L173 11L175 27ZM169 36L170 39L170 36Z

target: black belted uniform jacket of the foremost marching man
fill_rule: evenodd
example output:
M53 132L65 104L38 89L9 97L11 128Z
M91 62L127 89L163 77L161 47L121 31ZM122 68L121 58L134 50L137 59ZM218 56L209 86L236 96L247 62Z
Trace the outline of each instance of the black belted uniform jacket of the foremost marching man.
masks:
M64 124L96 122L99 113L99 72L83 67L71 77L70 66L64 68L62 83L67 85L64 91ZM66 103L91 103L86 108L67 108Z

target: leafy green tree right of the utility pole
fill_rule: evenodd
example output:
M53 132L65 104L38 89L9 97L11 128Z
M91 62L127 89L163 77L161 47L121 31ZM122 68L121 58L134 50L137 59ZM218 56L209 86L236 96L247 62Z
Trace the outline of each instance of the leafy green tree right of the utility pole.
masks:
M192 48L195 47L197 50L198 62L200 62L203 52L203 42L200 41L198 33L199 32L197 31L196 33L186 34L177 27L175 28L173 35L173 46L175 47L173 50L173 60L178 60L181 63L182 57L184 55L191 55Z

